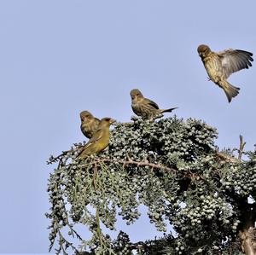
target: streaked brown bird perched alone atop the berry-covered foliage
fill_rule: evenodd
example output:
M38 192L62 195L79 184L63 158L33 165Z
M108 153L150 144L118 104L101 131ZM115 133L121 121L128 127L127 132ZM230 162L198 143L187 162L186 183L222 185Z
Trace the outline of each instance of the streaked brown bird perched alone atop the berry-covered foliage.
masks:
M171 113L177 107L160 109L159 106L148 98L145 98L140 90L134 89L130 92L132 111L143 119L154 119L161 113Z

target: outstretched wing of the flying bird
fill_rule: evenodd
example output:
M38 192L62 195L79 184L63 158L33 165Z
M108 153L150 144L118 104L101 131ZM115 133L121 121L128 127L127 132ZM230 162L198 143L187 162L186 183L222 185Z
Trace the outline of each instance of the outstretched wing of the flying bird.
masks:
M231 73L241 69L252 67L253 53L241 49L226 49L217 53L222 67L224 67L225 78Z

